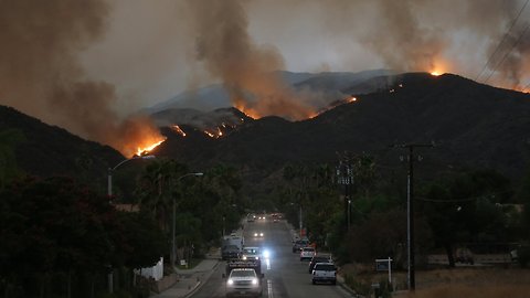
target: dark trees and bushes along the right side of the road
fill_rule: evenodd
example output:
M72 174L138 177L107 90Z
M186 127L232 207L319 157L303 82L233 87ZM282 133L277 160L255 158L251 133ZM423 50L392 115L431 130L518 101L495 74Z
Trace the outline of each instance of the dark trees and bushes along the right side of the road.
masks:
M346 281L370 295L391 291L374 270L374 259L392 257L396 273L406 270L406 171L385 173L369 156L354 160L350 224L344 212L344 189L326 164L289 164L284 184L274 194L276 205L294 226L303 224L319 247L330 249L339 265L365 264L368 272L349 272ZM382 169L382 170L381 170ZM361 184L362 181L362 184ZM416 268L428 269L427 255L445 254L448 267L462 260L459 249L477 254L517 252L510 266L530 260L530 175L517 184L492 170L453 169L415 179ZM300 207L301 206L301 207ZM320 248L320 249L322 249ZM381 280L380 280L381 279ZM400 281L406 288L406 279ZM395 285L394 285L395 286Z

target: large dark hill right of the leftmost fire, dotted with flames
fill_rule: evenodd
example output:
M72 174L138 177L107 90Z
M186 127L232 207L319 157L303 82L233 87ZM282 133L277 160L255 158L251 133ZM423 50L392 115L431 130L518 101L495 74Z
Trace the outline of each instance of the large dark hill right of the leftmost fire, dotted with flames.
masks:
M312 78L310 78L312 79ZM530 95L445 74L374 76L339 84L357 102L290 123L278 117L246 120L230 135L211 138L192 126L187 137L165 129L156 149L191 167L226 162L256 181L286 162L336 163L337 152L367 152L383 167L403 168L404 150L391 145L435 142L418 150L427 174L455 168L492 168L518 179L529 161ZM370 92L371 91L371 92Z

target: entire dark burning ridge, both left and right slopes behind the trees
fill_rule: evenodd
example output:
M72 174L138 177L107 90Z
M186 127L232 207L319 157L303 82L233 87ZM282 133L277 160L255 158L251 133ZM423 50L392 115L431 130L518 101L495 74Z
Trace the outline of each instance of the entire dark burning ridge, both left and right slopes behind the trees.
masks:
M452 74L375 76L361 85L352 84L341 85L343 88L338 92L351 94L356 102L303 121L274 116L252 119L235 108L225 108L206 114L191 110L188 124L181 124L173 116L182 111L160 110L167 113L163 119L180 125L186 137L171 126L162 126L168 139L152 153L174 158L193 170L208 170L219 162L233 164L252 183L267 183L289 162L336 164L337 152L346 150L372 155L389 169L406 169L400 162L400 156L406 152L391 148L406 142L436 143L435 148L418 152L423 156L418 164L422 174L454 168L492 168L517 180L527 170L529 94ZM363 92L363 85L369 92ZM243 120L222 127L226 119ZM222 129L223 134L211 136L194 126L197 120ZM4 129L15 129L24 136L15 146L15 156L18 166L30 174L104 180L107 168L124 159L108 146L0 106L0 130Z

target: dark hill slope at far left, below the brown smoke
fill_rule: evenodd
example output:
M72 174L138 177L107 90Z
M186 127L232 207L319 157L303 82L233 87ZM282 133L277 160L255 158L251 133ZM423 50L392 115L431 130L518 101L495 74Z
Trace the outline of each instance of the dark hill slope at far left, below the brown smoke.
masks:
M11 107L0 106L0 131L4 129L15 129L23 135L15 147L17 164L32 175L105 180L108 167L124 160L108 146L87 141Z

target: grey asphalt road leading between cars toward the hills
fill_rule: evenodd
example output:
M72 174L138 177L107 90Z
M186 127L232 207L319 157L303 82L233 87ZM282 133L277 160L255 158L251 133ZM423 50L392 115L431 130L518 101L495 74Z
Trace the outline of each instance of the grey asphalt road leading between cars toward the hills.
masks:
M263 232L263 240L254 238L254 232ZM267 219L245 223L244 236L246 246L261 246L271 252L269 262L262 263L262 272L265 274L263 297L351 297L340 286L311 284L311 275L307 272L308 262L300 262L299 255L293 254L290 231L284 221L273 223ZM225 263L220 263L206 284L192 297L225 297L225 279L222 278Z

